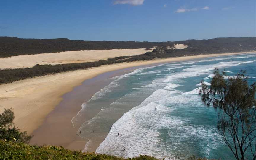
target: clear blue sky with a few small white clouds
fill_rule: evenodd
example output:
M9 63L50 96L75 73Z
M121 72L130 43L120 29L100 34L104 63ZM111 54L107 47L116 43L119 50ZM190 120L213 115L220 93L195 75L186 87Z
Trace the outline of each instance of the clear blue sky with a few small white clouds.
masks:
M0 36L176 41L255 37L255 0L0 0Z

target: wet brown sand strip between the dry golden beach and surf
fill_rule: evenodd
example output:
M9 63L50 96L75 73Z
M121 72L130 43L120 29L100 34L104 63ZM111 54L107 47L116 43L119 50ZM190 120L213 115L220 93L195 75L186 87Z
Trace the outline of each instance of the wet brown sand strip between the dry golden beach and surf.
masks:
M154 65L145 65L143 67L149 66ZM71 119L82 109L81 105L91 99L96 92L110 84L113 81L113 77L130 73L138 68L141 68L141 66L106 72L92 79L87 79L82 85L74 87L71 92L62 96L63 100L45 117L43 124L33 131L32 135L34 137L30 143L39 146L50 144L53 146L63 146L71 150L83 150L88 140L78 135L78 129L81 125L77 122L72 124ZM100 107L89 110L86 114L86 120L90 120L100 111ZM59 136L62 138L59 138ZM92 145L92 148L88 151L95 152L98 147L97 144L101 143L104 139L97 138L96 145Z

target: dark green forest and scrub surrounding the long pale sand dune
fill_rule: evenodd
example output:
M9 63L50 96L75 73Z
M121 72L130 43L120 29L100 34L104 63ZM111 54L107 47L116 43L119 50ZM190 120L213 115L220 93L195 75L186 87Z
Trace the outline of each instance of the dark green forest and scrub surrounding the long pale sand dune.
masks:
M199 55L210 53L242 52L256 50L256 37L254 38L215 38L210 40L187 40L178 42L91 42L71 41L68 39L20 39L15 37L0 37L0 57L20 55L25 53L45 53L81 49L111 49L111 48L151 48L155 45L160 47L152 52L142 55L121 56L86 63L36 65L33 68L18 68L0 70L0 84L10 83L22 79L56 74L79 69L98 67L105 64L132 62L139 60L152 60L155 58L168 58L186 55ZM167 49L175 43L188 45L188 48ZM87 45L85 45L87 44ZM89 45L90 44L90 45ZM84 48L82 48L83 46ZM90 46L90 47L88 47ZM87 48L86 48L87 47Z

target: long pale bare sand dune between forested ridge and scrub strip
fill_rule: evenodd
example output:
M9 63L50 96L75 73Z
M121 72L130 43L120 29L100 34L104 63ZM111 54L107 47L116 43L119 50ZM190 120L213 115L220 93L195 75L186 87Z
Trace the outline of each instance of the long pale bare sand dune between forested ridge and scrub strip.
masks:
M80 50L59 53L41 53L34 55L18 55L0 58L0 69L33 67L36 64L65 64L82 63L108 59L117 56L140 55L152 50L139 49L112 49L112 50Z

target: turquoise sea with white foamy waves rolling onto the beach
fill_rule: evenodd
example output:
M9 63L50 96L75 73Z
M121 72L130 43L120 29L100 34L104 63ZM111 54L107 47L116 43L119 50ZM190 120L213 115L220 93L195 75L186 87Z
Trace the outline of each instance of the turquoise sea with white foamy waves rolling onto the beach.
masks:
M217 113L202 104L198 89L200 81L210 83L215 67L225 68L228 76L246 70L251 84L256 81L255 66L256 54L247 54L168 63L115 77L83 104L81 113L96 106L102 111L91 125L80 128L81 137L97 134L86 132L91 128L109 131L96 152L123 157L183 154L232 159L217 133ZM115 117L119 114L121 118Z

